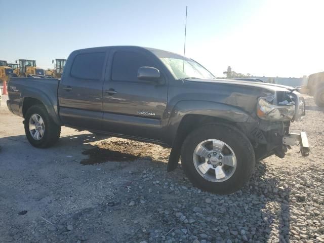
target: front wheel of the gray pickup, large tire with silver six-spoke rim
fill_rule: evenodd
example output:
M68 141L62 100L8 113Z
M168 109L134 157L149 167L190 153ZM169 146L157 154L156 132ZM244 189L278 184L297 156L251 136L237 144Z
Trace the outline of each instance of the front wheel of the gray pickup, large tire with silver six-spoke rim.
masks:
M209 143L209 140L215 141L212 142L214 147ZM209 155L206 153L204 156L196 154L197 151L199 154L202 153L199 152L199 149L196 150L201 143L203 143L203 147L207 148L206 151ZM223 150L217 149L217 144L223 144ZM210 151L214 151L211 153L212 155ZM198 163L201 162L198 167L197 160ZM209 165L206 165L206 160ZM181 164L186 176L194 186L217 194L230 194L239 190L249 181L255 168L255 154L249 139L237 128L223 124L209 124L192 131L186 137L181 150ZM201 172L198 169L203 164L204 167L209 166L205 169L207 172ZM231 164L231 166L225 164ZM215 166L216 168L214 168ZM218 175L216 176L216 174Z

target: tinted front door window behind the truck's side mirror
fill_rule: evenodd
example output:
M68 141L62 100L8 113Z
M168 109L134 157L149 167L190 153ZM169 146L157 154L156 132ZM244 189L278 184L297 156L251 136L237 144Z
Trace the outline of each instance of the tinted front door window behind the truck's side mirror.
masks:
M155 67L147 57L137 52L116 52L113 56L111 79L115 81L137 81L139 67Z

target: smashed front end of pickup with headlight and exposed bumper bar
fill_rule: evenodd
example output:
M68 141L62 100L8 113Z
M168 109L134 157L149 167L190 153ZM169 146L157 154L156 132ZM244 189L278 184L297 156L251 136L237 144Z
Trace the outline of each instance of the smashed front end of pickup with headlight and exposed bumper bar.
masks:
M302 156L310 153L305 132L290 133L290 124L305 116L305 101L298 92L276 92L258 99L258 124L247 129L254 147L256 159L270 155L283 158L291 146L299 145ZM252 124L250 124L251 126Z

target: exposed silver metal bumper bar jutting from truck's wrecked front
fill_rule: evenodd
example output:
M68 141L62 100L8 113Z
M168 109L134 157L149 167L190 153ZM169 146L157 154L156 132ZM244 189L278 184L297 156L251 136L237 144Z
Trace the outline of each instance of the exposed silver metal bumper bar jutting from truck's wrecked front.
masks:
M297 144L299 142L299 144ZM305 132L298 133L290 133L284 137L282 137L282 144L288 146L299 145L300 153L303 157L306 157L310 153L310 147L308 143L308 138Z

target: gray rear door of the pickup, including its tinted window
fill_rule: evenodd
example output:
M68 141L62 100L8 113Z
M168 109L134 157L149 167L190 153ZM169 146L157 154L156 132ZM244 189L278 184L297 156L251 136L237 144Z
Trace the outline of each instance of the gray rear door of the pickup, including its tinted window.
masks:
M72 54L71 54L72 55ZM107 50L75 53L59 86L60 117L66 126L101 130L102 86Z

